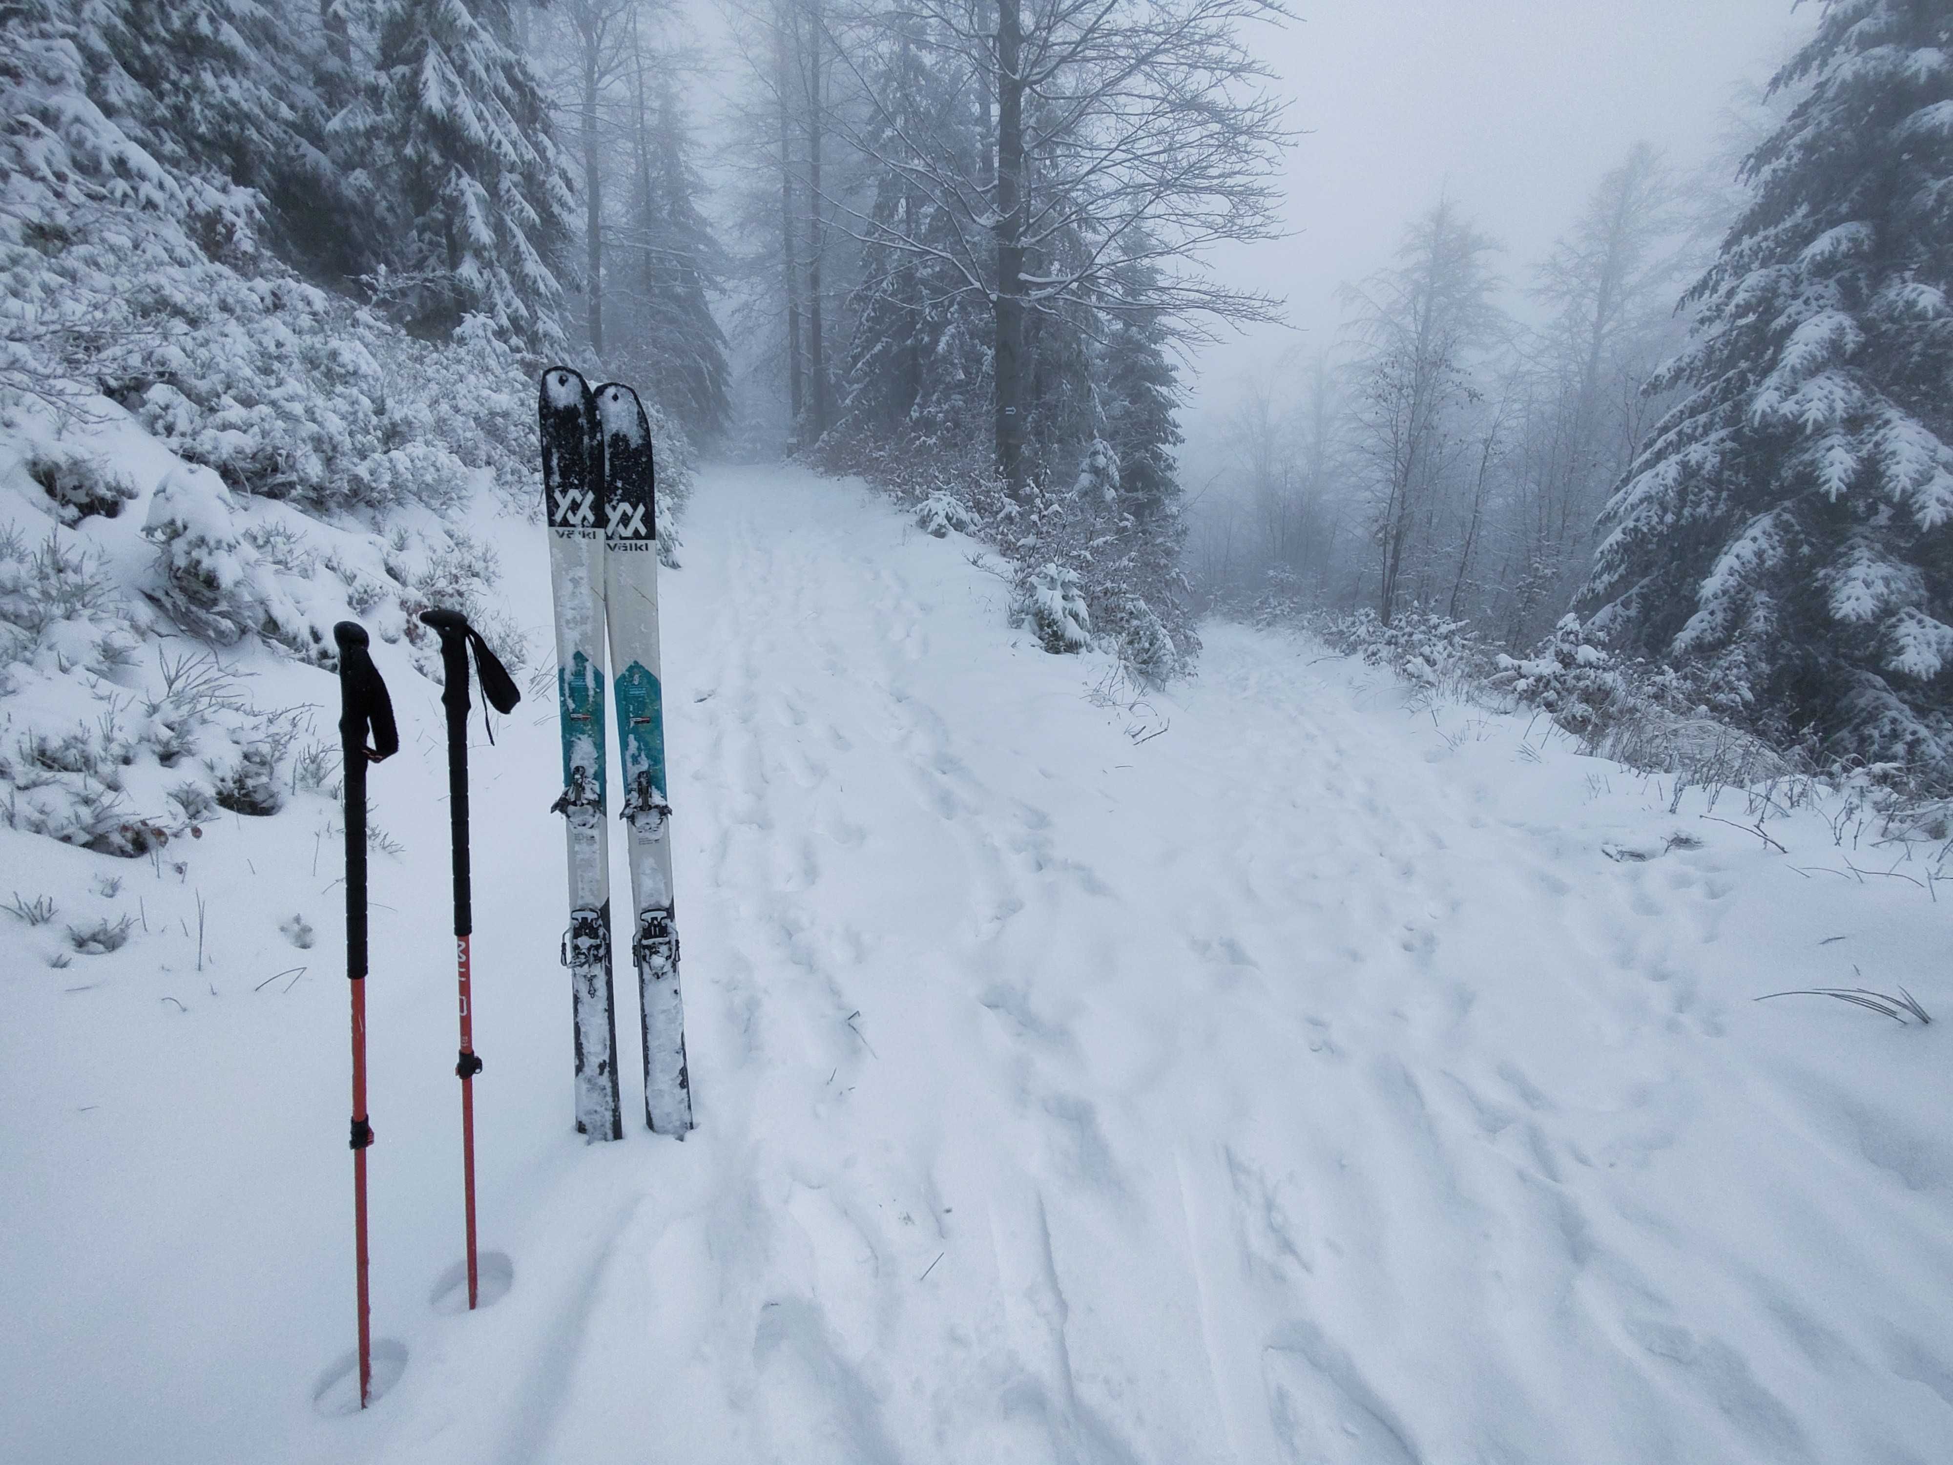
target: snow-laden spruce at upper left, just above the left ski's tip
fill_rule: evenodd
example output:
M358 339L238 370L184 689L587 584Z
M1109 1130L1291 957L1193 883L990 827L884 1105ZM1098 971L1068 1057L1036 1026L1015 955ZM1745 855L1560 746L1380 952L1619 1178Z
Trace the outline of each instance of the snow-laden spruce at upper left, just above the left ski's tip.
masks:
M514 342L559 346L576 182L510 0L381 0L377 35L334 135L383 221L381 297L416 336L484 314Z

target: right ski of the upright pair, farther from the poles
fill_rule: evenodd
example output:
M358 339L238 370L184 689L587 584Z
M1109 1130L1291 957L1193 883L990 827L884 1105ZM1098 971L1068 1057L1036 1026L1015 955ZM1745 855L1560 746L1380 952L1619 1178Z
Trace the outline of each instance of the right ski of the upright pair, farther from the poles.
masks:
M658 518L650 424L637 393L598 387L603 449L603 578L631 852L631 959L644 1024L644 1123L658 1135L691 1129L686 1008L678 988L672 899L672 805L664 772L658 684Z

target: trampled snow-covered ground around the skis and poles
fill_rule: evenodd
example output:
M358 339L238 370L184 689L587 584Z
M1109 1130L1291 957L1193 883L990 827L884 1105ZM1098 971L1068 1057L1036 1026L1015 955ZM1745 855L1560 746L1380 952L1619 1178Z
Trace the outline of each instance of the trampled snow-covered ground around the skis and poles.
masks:
M541 531L482 533L547 647ZM353 1338L334 807L137 861L0 830L0 900L61 906L0 918L0 1457L1953 1453L1953 902L1846 865L1900 850L1803 811L1783 854L1273 633L1211 625L1197 684L1119 705L969 549L859 486L699 481L662 590L686 1143L635 1117L627 979L629 1137L570 1131L555 711L496 746L477 717L514 1285L473 1317L430 1301L461 1250L439 690L375 647L373 1313L406 1367L363 1416L314 1406ZM330 736L324 672L254 697ZM135 940L51 969L98 912ZM1752 1002L1861 983L1945 1022Z

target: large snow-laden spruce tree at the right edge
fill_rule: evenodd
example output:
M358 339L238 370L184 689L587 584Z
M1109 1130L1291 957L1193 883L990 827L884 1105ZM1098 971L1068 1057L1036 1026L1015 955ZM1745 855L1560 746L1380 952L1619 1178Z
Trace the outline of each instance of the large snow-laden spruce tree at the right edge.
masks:
M1582 592L1766 731L1953 774L1953 8L1828 0L1807 88L1685 297L1687 395L1627 471Z

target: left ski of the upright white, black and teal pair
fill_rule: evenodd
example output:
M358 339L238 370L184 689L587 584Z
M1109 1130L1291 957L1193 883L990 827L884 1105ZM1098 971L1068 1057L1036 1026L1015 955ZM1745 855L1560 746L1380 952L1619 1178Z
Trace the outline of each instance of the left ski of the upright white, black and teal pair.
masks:
M545 371L539 418L562 719L562 795L553 809L564 816L570 854L570 926L561 955L576 1024L576 1131L623 1139L603 820L603 443L590 383L568 367Z

